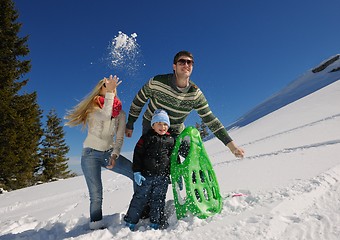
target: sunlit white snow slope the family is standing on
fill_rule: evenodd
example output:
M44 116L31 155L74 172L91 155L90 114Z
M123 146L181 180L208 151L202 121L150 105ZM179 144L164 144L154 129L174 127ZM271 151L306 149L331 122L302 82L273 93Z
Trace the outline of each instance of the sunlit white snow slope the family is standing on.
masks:
M0 239L339 239L340 81L229 133L246 156L236 159L213 138L205 142L221 194L220 214L177 220L172 188L170 226L131 232L121 224L132 183L103 171L104 220L91 231L83 176L0 194Z

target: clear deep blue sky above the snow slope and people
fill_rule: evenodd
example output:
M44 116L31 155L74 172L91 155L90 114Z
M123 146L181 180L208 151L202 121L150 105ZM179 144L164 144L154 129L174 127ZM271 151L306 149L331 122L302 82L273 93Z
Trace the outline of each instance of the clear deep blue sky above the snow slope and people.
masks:
M340 50L337 0L14 2L32 60L24 90L37 91L44 114L54 108L60 117L110 74L123 80L119 96L128 112L142 85L172 72L174 55L188 50L195 57L192 80L227 126ZM133 74L106 59L119 31L138 35L141 65ZM140 137L140 119L123 151ZM186 124L196 121L193 112ZM69 157L79 158L86 132L65 127L65 133Z

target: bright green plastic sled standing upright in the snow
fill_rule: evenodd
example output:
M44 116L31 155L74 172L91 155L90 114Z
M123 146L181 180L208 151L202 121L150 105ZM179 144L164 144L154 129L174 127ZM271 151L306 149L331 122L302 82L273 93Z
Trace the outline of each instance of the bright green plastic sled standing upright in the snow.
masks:
M190 143L190 148L184 158L179 150L185 143ZM185 128L176 140L171 155L171 181L177 219L189 212L202 219L221 212L223 202L216 175L194 127Z

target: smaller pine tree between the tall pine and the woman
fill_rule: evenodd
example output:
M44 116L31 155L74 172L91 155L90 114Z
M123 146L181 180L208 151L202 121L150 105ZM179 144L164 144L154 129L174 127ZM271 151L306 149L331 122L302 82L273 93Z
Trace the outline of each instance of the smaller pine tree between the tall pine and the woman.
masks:
M44 136L41 148L41 170L42 181L52 181L55 179L64 179L73 177L68 170L66 154L70 148L65 143L65 133L62 120L57 116L57 113L52 109L47 115L47 123L44 129Z

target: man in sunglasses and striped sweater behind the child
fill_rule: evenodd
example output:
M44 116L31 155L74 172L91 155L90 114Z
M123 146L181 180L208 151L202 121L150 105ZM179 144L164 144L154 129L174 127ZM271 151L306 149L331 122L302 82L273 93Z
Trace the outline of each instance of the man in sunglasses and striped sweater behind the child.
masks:
M184 121L192 110L196 110L211 132L236 156L242 158L244 150L231 139L223 124L211 112L202 91L190 80L194 57L188 51L180 51L174 57L173 73L157 75L149 80L134 98L125 135L131 137L133 125L145 103L149 100L143 115L143 134L150 129L153 112L164 109L170 118L171 134L176 138L184 130Z

